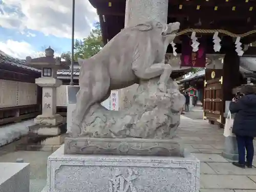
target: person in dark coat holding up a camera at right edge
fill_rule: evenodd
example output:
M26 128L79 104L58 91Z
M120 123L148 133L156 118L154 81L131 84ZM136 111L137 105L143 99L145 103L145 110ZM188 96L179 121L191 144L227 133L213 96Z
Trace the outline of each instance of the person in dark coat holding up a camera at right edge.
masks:
M242 96L232 99L230 113L235 113L232 133L237 137L239 162L233 162L241 168L252 167L254 155L253 138L256 137L256 95L253 86L243 87ZM245 149L247 151L245 161Z

